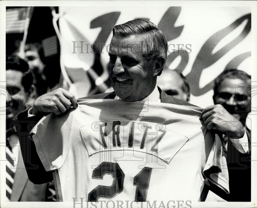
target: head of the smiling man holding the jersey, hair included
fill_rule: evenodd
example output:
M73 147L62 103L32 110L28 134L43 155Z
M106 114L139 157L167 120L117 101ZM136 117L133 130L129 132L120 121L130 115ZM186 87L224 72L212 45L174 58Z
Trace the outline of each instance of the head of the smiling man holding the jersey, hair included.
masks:
M109 49L108 70L116 95L124 101L143 100L151 93L158 97L156 78L166 62L166 38L151 22L134 20L124 25L113 28ZM151 32L146 33L148 31ZM144 87L147 91L134 93L135 87L138 90Z

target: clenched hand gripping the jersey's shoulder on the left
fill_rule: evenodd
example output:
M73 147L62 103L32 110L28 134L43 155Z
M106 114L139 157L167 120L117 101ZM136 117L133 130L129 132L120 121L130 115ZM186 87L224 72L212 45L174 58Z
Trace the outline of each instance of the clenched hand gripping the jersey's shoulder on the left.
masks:
M32 106L32 114L54 113L59 115L67 111L71 106L78 107L75 96L63 88L58 88L39 96Z

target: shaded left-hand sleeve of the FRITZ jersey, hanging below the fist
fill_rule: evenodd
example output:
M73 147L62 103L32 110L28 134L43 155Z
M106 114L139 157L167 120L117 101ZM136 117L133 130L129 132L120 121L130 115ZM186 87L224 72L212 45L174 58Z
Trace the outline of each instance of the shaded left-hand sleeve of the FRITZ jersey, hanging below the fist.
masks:
M66 158L72 115L44 116L31 132L38 156L46 171L60 168Z

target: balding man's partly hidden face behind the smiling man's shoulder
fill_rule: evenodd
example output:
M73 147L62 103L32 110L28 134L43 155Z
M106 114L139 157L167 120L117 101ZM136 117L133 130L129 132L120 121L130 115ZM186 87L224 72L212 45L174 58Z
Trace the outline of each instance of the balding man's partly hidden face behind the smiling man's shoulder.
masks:
M184 81L180 75L173 71L163 71L160 76L157 77L157 86L168 95L172 95L183 101L187 100L187 93L183 91Z

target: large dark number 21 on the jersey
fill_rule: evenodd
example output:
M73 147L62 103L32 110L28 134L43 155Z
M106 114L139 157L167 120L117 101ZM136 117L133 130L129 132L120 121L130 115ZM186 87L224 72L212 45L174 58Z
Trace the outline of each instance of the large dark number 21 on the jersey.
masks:
M151 167L144 167L135 177L133 185L136 186L135 201L145 202L149 187L150 177L152 173ZM102 162L93 170L93 179L103 179L105 174L113 176L111 186L98 185L88 194L88 201L97 201L100 197L112 199L123 191L123 183L125 174L117 163Z

